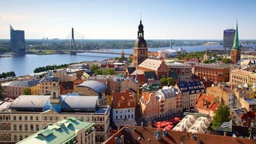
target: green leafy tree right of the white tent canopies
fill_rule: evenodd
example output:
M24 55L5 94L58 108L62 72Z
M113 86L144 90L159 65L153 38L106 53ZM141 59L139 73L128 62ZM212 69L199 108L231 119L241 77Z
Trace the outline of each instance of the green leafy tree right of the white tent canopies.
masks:
M227 105L219 105L217 109L214 111L213 116L213 129L214 127L219 127L221 123L227 122L230 120L229 118L229 107Z

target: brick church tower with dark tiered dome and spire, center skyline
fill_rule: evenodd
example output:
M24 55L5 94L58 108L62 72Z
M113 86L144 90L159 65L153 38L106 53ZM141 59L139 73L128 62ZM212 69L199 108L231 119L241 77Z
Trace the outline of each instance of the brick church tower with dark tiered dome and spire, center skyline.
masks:
M137 67L141 64L145 59L147 59L147 43L144 39L144 31L143 25L140 21L139 23L139 31L137 34L137 39L134 43L133 47L133 63L134 67Z

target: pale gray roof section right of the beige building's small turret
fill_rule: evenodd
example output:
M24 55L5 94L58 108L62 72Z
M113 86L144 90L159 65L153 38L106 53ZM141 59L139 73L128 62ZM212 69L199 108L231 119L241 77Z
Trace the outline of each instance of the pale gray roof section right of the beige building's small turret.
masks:
M71 109L95 109L98 96L67 96L62 107ZM64 105L67 104L67 105Z

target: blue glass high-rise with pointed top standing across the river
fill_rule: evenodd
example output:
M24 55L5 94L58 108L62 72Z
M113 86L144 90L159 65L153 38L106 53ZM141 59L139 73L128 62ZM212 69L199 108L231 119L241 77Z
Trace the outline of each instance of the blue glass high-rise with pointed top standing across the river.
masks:
M26 47L25 47L24 31L15 30L10 25L10 33L11 33L11 51L17 54L25 53Z

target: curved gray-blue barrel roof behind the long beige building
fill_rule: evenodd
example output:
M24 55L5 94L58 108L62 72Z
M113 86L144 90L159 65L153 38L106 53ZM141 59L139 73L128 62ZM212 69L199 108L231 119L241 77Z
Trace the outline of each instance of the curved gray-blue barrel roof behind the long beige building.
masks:
M90 89L93 89L97 93L101 93L102 91L107 90L107 85L94 80L84 81L80 85L77 85L77 87L89 87Z

